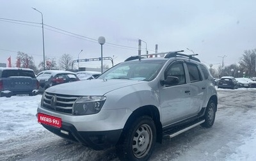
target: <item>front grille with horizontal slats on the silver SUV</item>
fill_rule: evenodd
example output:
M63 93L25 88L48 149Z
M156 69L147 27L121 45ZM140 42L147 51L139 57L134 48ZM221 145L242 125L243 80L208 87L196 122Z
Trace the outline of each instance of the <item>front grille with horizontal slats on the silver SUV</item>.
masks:
M53 96L56 96L56 103L54 105L52 105ZM76 102L77 98L79 98L79 96L59 95L45 92L43 107L51 111L72 114L72 106Z

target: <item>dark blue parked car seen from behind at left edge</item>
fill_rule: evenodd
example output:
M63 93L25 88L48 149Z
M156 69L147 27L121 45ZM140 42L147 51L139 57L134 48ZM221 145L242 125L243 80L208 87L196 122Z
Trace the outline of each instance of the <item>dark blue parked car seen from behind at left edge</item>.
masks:
M0 96L37 95L39 82L28 68L0 68Z

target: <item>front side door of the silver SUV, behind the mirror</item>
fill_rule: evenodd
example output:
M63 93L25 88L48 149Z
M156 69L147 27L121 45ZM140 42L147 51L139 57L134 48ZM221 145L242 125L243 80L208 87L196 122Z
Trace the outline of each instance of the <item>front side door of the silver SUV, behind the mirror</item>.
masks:
M160 88L161 113L163 126L170 125L189 116L190 88L184 70L184 62L172 63L164 72L164 79L167 75L179 78L179 83Z

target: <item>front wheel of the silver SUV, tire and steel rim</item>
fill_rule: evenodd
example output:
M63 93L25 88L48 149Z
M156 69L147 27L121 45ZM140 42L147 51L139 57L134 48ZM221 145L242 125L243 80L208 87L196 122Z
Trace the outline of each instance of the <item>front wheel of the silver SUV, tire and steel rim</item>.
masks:
M149 116L141 116L123 132L117 146L120 160L148 160L156 144L156 126Z

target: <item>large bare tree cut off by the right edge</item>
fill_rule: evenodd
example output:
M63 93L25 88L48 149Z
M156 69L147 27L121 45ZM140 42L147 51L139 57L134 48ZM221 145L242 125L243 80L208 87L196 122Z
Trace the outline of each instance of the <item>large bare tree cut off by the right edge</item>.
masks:
M246 76L253 77L256 76L255 72L255 56L256 56L256 49L253 50L245 50L243 57L239 61L239 65L243 72L246 72Z

